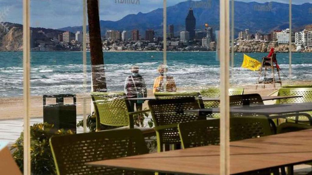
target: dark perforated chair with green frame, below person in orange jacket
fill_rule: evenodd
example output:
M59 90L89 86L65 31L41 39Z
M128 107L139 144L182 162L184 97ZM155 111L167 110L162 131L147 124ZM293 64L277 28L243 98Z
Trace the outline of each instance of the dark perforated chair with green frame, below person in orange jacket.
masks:
M157 151L169 149L173 144L178 147L181 143L178 124L188 121L206 120L206 117L184 113L185 110L199 109L195 97L177 99L155 99L148 102L157 137Z

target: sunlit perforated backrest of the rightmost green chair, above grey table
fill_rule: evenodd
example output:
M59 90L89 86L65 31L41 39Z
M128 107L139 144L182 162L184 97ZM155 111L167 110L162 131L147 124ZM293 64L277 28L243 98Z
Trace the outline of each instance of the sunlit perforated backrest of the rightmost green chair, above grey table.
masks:
M276 103L303 103L312 102L312 87L280 88L278 96L302 96L276 100Z

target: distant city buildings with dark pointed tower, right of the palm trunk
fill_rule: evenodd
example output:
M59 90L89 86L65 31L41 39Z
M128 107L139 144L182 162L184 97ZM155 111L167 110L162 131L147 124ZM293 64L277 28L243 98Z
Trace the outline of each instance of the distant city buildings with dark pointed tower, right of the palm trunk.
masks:
M138 29L106 31L103 50L162 50L162 36L157 36L153 29L146 29L143 35L140 35L140 31ZM169 24L166 35L168 50L215 50L212 27L205 24L204 31L196 30L196 19L192 8L188 10L185 18L185 30L180 31L178 36L174 33L174 26Z

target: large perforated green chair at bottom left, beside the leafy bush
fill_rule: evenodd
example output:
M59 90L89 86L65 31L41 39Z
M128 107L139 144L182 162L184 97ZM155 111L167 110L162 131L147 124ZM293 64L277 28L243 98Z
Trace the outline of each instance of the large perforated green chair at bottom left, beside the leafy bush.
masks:
M50 139L57 175L150 174L86 165L93 161L148 154L142 132L137 129L55 136Z

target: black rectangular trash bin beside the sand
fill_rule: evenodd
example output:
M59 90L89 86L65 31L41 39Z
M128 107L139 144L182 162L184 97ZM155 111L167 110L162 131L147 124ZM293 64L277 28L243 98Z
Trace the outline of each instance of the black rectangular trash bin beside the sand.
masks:
M46 98L56 98L56 104L47 105ZM64 105L64 98L73 98L73 104ZM76 133L76 95L43 95L43 122L53 124L56 130L72 130Z

